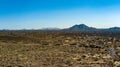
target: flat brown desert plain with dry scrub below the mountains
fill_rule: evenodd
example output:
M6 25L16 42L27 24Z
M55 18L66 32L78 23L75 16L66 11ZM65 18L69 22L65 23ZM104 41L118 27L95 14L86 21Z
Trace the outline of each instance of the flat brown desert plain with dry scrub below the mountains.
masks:
M0 67L120 67L118 36L0 32Z

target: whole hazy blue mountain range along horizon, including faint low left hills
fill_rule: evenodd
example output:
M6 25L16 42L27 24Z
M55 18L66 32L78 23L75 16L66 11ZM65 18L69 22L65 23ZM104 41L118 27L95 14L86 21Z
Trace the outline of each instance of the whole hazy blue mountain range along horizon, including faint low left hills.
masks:
M60 28L42 28L42 29L22 29L22 30L54 30L54 31L82 31L82 32L102 32L102 33L109 33L109 32L112 32L112 33L120 33L120 27L111 27L111 28L95 28L95 27L89 27L85 24L79 24L79 25L74 25L72 27L69 27L69 28L64 28L64 29L60 29ZM9 30L0 30L0 31L9 31Z

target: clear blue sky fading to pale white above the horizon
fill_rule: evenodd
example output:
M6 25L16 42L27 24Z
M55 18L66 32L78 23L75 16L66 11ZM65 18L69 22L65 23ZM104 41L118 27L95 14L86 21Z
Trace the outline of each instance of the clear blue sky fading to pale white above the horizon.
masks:
M0 29L120 27L120 0L0 0Z

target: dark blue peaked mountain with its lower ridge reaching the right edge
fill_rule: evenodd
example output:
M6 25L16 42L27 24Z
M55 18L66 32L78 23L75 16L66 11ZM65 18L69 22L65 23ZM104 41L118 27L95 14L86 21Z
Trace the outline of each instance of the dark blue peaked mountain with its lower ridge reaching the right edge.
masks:
M111 27L111 28L105 28L105 29L97 29L94 27L89 27L85 24L80 24L80 25L74 25L70 28L63 29L67 31L83 31L83 32L102 32L102 33L120 33L120 27Z

